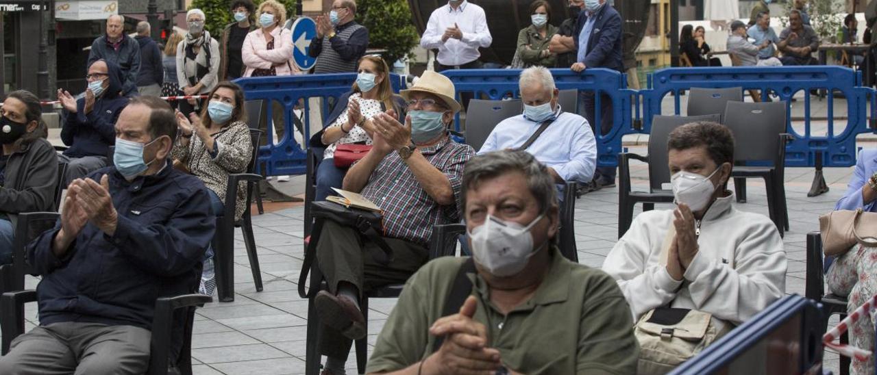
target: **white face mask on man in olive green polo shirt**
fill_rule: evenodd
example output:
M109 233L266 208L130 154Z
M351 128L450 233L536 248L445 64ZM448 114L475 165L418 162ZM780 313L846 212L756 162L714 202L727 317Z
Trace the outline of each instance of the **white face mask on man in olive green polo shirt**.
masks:
M539 250L533 249L530 229L544 216L539 215L524 227L488 215L483 224L469 232L473 258L494 276L506 277L521 272Z

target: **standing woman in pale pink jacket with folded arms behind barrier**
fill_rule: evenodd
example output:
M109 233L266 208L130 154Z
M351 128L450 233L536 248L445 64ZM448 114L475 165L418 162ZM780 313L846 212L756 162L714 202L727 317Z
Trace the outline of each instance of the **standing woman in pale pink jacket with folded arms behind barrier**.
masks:
M275 75L299 74L300 71L292 63L292 34L283 28L286 22L286 8L275 0L266 0L256 11L259 29L246 34L241 54L246 65L245 77L266 77ZM285 129L283 128L283 106L273 103L273 120L277 138L275 144L281 143ZM266 131L267 124L260 124ZM264 139L264 138L263 138ZM265 145L265 140L262 141ZM284 178L285 177L285 178ZM289 176L278 176L278 180L289 180Z

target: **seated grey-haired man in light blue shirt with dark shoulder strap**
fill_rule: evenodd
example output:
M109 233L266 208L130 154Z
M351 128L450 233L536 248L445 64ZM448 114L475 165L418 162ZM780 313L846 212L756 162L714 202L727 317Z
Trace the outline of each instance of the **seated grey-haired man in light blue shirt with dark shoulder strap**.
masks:
M584 117L560 108L560 91L554 87L551 71L545 67L524 69L518 85L524 113L497 124L478 153L519 148L542 123L552 121L526 151L548 166L559 184L593 179L597 157L594 133Z

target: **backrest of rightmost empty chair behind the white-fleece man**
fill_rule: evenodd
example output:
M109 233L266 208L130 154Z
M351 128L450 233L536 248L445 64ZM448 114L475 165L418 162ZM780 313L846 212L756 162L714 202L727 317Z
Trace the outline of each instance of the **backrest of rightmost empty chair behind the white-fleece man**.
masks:
M786 106L784 101L728 103L724 124L734 133L734 161L777 158L777 139L786 132Z

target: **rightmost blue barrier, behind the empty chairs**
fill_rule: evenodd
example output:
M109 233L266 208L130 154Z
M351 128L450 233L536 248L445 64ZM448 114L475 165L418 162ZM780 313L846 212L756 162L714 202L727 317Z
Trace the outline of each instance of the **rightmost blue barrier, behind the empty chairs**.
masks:
M678 115L681 113L680 94L689 88L757 89L762 93L774 93L788 103L786 125L794 140L787 146L786 166L816 166L819 157L824 160L824 166L852 166L856 163L856 135L875 129L873 120L870 125L867 121L868 103L872 103L872 110L875 107L874 90L860 86L859 72L837 66L660 69L650 77L650 88L639 91L642 96L642 117L640 120L640 114L636 113L634 124L641 122L644 126L638 130L648 133L652 116L662 114L661 101L670 93L674 95L674 114ZM796 131L791 123L790 99L799 91L809 94L813 90L827 96L828 132L825 136L811 133L809 95L804 95L802 99L804 131ZM845 97L847 103L847 124L843 131L836 131L835 127L833 99L838 93ZM795 105L800 105L800 102ZM821 155L817 157L817 154Z

